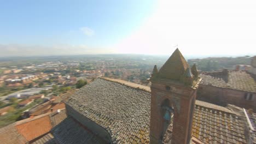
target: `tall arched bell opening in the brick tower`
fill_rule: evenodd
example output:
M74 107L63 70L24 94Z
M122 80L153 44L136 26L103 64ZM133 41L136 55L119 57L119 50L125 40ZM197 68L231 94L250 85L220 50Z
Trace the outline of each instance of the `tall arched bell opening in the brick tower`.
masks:
M168 143L171 140L172 136L172 127L173 127L173 115L174 109L173 105L170 103L170 100L165 99L161 104L161 112L162 112L162 142Z

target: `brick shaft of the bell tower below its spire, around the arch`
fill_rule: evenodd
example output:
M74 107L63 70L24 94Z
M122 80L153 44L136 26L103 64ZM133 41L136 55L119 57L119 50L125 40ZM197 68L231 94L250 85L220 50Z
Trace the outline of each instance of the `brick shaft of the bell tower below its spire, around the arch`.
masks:
M151 113L150 113L150 143L161 141L163 129L163 115L161 113L162 101L168 99L170 107L174 109L172 143L189 143L191 137L191 123L196 97L196 89L169 85L166 90L164 83L152 83Z

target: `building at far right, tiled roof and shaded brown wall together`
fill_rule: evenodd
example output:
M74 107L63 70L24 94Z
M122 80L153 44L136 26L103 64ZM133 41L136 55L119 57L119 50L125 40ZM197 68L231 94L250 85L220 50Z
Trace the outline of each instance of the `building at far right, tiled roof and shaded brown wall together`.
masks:
M213 104L228 104L256 111L256 57L252 58L250 69L202 72L202 82L197 99ZM238 67L239 66L239 67Z

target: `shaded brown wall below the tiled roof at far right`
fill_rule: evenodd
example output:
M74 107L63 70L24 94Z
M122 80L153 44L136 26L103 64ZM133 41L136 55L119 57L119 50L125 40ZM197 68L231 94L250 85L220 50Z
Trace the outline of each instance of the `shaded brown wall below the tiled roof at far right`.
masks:
M235 89L220 88L210 85L200 85L197 90L198 100L206 101L221 106L227 104L244 107L245 109L253 109L256 111L256 93L253 94L252 100L246 100L245 94L248 92L237 91Z

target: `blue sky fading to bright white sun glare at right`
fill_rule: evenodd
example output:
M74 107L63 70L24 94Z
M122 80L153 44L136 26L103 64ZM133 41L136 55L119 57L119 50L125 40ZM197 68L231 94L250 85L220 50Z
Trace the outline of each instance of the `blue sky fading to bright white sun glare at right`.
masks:
M3 1L0 56L256 55L256 2Z

